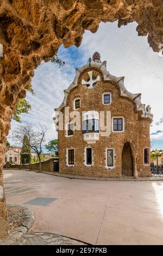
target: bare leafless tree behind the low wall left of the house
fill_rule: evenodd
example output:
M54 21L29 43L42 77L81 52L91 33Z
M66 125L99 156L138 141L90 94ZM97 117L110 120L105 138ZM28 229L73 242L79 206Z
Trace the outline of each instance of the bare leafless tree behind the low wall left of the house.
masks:
M17 144L26 145L26 147L30 147L37 154L40 163L41 170L41 153L43 143L45 143L45 134L47 132L47 127L39 124L39 128L35 131L32 126L29 124L20 125L16 127L16 129L12 132L12 138ZM24 140L24 136L28 137L28 140Z

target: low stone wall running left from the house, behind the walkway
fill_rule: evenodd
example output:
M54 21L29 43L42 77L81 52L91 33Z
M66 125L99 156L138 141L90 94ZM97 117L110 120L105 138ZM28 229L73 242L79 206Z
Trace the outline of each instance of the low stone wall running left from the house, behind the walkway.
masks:
M47 172L54 172L54 160L58 160L59 157L51 157L50 159L41 161L41 170L45 170ZM10 162L7 162L7 164L4 165L4 168L7 169L20 169L20 164L12 164ZM30 169L30 164L22 164L22 169ZM32 170L39 170L40 169L40 163L32 163L31 164Z

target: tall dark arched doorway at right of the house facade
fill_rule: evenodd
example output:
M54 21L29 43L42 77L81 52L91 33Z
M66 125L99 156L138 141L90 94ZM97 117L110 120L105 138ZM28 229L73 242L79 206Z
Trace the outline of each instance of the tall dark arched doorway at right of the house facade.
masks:
M133 157L130 143L124 143L122 150L122 175L133 176Z

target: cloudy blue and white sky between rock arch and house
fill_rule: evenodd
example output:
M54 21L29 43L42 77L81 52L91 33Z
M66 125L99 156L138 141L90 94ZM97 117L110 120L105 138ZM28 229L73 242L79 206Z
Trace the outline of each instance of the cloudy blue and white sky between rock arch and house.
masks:
M84 65L95 51L106 60L111 75L125 76L124 85L131 93L141 93L141 102L150 105L154 114L151 124L152 148L163 149L163 57L153 52L147 42L147 36L137 36L136 22L117 27L117 22L101 23L93 34L86 31L79 48L63 45L58 57L65 61L65 66L58 68L52 62L41 62L35 70L32 86L35 96L27 93L26 99L32 105L28 114L21 114L23 123L37 127L39 123L48 126L46 141L57 138L53 116L54 108L64 98L64 89L70 86L75 76L75 68ZM19 125L11 121L8 140L12 142L11 133Z

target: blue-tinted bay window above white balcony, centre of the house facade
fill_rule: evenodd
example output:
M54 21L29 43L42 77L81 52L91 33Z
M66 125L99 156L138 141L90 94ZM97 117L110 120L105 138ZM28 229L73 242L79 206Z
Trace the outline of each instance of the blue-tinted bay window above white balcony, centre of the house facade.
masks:
M99 120L89 119L83 121L83 133L86 132L99 132Z

